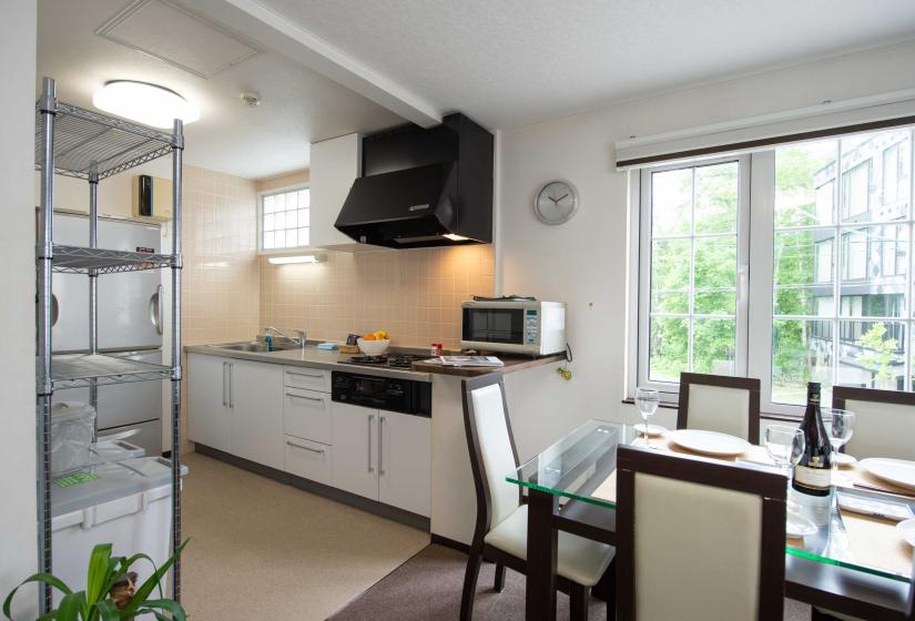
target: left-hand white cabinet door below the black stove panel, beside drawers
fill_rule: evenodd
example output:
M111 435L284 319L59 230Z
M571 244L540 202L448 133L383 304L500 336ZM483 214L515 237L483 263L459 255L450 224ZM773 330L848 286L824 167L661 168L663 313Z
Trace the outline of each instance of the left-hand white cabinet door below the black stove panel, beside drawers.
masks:
M334 487L378 500L378 410L333 403Z

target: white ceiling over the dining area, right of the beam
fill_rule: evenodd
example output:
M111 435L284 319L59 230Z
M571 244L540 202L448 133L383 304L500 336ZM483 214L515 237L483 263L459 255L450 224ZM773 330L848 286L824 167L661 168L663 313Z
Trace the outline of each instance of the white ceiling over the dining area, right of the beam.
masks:
M252 3L491 129L915 37L912 0Z

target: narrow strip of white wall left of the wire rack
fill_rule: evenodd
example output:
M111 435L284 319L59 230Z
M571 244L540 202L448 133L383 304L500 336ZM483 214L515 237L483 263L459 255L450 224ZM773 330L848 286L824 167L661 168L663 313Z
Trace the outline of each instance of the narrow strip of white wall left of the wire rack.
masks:
M34 571L34 165L35 3L3 3L0 20L0 597ZM37 610L23 590L21 614Z

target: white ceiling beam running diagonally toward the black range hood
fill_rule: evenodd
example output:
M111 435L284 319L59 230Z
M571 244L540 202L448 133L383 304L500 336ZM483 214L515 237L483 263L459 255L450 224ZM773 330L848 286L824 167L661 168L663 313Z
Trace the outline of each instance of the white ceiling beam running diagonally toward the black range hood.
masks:
M441 123L441 112L428 101L256 0L195 0L193 7L417 125L430 128Z

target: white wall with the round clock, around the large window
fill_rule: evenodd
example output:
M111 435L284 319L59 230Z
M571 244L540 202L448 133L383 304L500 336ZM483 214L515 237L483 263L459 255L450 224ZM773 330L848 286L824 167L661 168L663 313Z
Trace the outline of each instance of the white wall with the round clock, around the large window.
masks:
M614 141L913 86L915 42L907 42L500 132L501 292L567 302L576 356L571 383L542 370L517 374L507 387L521 457L588 418L638 420L621 404L628 191L627 175L614 171ZM541 224L531 208L537 186L552 177L571 181L581 197L560 226ZM661 410L657 423L674 418Z

